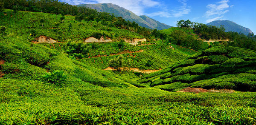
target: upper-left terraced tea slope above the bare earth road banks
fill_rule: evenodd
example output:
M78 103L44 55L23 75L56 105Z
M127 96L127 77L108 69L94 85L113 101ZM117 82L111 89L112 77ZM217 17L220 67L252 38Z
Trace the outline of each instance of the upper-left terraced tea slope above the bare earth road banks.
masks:
M47 14L41 12L18 11L14 14L12 11L5 9L0 12L0 26L6 26L7 34L17 34L23 38L28 38L32 29L36 35L29 37L29 41L36 40L39 36L47 36L58 42L67 42L68 40L84 41L91 37L93 33L106 34L106 37L112 40L125 38L132 40L134 38L143 38L143 36L128 30L108 27L96 21L77 22L74 16L65 16L63 23L56 26L55 23L61 21L61 15ZM43 19L44 23L40 23ZM34 23L31 22L34 21ZM69 31L69 25L72 25ZM118 33L118 34L117 34Z

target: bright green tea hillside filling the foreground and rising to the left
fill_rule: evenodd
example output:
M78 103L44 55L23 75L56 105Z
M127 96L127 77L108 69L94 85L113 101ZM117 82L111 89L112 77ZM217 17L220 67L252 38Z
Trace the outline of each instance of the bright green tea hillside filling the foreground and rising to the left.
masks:
M143 85L131 77L92 68L15 36L0 36L0 62L3 125L256 123L252 92L187 94L137 88Z

